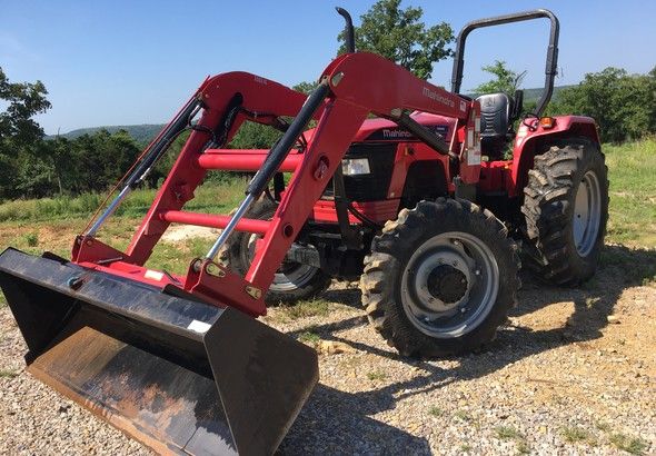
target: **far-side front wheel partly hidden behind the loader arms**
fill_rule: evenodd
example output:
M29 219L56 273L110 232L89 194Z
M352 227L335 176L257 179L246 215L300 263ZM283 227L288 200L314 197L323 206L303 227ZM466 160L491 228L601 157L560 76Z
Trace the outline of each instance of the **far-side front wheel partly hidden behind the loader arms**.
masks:
M272 201L261 199L251 206L246 217L269 220L276 212L276 208L277 206ZM233 232L219 250L219 262L228 266L235 272L245 275L250 268L255 241L259 237L259 235L250 232ZM330 276L319 268L284 261L265 295L265 300L269 305L276 305L310 299L325 291L330 286Z

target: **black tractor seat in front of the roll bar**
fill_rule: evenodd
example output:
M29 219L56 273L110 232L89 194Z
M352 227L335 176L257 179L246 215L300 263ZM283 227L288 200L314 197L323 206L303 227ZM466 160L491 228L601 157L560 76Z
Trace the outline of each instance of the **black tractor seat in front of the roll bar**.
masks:
M510 109L513 101L506 93L489 93L477 98L480 103L480 147L483 155L500 155L511 138Z

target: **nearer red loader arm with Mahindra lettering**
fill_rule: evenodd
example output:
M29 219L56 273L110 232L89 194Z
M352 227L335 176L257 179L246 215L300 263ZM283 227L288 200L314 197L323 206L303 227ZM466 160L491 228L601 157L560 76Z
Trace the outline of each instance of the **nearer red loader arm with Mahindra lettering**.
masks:
M295 234L307 220L369 113L398 121L405 111L418 110L456 118L461 128L469 125L473 131L478 117L476 102L433 86L369 52L339 57L324 71L321 80L329 86L324 115L246 275L246 280L260 289L269 287ZM469 147L474 145L465 146L465 163ZM459 150L454 152L460 156ZM322 167L326 169L319 172Z

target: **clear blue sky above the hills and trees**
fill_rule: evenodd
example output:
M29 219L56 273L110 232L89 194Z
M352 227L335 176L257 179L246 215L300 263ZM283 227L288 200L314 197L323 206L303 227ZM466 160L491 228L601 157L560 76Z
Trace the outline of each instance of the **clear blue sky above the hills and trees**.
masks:
M250 71L286 85L314 80L335 57L342 28L334 7L356 22L369 1L16 1L0 0L0 66L13 81L40 79L52 109L48 133L103 125L157 123L171 117L207 75ZM428 24L459 30L488 16L548 8L560 19L557 85L605 67L646 72L656 65L656 2L625 0L411 0ZM544 81L548 22L477 30L467 41L465 90L488 79L495 59ZM435 66L448 86L451 61ZM1 107L0 107L1 108Z

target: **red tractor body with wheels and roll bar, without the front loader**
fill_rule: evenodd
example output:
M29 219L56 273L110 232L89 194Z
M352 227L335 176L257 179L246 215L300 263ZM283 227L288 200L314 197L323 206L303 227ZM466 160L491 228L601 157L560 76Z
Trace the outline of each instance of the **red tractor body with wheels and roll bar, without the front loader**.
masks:
M352 47L350 18L340 13ZM549 19L551 29L545 90L534 112L523 116L521 90L476 100L453 95L471 30L537 18ZM331 278L359 277L369 320L391 345L405 355L439 356L494 338L516 301L517 245L525 266L551 284L590 278L604 245L607 171L593 119L540 117L554 90L557 46L550 11L468 23L457 39L451 93L421 88L440 113L392 111L362 122L267 300L306 299ZM288 160L302 157L315 135L306 131ZM274 217L285 190L277 175L248 216ZM236 234L220 250L221 261L246 274L259 238Z

